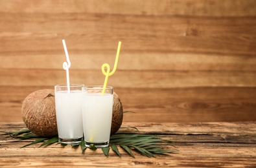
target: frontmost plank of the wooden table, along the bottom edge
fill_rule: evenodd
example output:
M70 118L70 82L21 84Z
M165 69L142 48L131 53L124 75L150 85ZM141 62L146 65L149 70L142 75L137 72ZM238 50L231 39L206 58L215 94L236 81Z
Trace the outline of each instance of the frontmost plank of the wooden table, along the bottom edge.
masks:
M199 149L201 150L201 149ZM223 149L224 151L225 149ZM226 148L227 150L227 148ZM238 149L240 150L240 149ZM190 151L187 151L190 152ZM97 160L98 159L98 160ZM196 160L196 161L195 161ZM95 157L66 157L65 160L56 156L54 158L39 158L22 157L22 158L4 158L1 159L1 167L254 167L255 158L204 158L204 157L191 157L191 158L178 158L170 156L169 158L141 158L133 160L131 158L100 158Z

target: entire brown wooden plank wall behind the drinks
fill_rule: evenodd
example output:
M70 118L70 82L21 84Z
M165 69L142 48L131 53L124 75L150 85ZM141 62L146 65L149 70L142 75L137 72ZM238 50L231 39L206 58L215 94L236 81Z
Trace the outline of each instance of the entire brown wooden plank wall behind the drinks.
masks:
M34 90L108 84L124 121L256 120L254 0L0 0L0 121L21 119Z

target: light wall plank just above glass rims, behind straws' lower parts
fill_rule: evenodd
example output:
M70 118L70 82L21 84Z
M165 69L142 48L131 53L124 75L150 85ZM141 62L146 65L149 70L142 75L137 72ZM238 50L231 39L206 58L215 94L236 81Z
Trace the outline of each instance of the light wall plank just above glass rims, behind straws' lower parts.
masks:
M69 70L71 83L103 85L104 75L99 70ZM36 86L66 83L65 70L0 69L2 86ZM126 88L180 87L255 87L255 72L242 71L169 71L117 70L108 85Z

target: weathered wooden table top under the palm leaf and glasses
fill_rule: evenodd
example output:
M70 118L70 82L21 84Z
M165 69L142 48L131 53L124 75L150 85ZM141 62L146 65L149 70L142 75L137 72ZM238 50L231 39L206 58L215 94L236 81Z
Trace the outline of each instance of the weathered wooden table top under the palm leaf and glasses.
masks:
M256 122L209 123L122 123L122 127L137 127L141 134L161 134L172 140L178 153L147 158L134 152L132 158L121 151L119 157L110 150L104 156L100 149L80 149L71 145L39 144L20 148L32 142L4 138L0 135L0 167L255 167ZM19 131L23 123L0 123L1 131ZM121 129L121 132L136 132ZM167 150L174 147L167 145Z

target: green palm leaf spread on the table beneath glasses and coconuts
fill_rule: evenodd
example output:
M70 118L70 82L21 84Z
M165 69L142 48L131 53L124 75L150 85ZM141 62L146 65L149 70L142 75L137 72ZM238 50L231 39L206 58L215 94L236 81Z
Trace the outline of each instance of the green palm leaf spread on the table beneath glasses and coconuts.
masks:
M34 142L29 143L27 145L24 145L23 147L27 147L32 144L41 143L40 147L44 145L51 145L53 143L59 144L58 142L58 136L54 136L51 138L41 138L37 136L36 134L29 131L29 129L24 129L21 131L16 132L4 132L5 134L8 134L12 138L18 138L21 140L29 139L29 138L38 138L34 140ZM163 149L165 145L169 143L173 143L170 140L163 140L164 136L159 135L150 135L150 134L129 134L129 133L117 133L110 136L110 147L111 149L121 157L121 153L119 152L119 149L117 148L117 145L119 145L124 151L128 152L130 156L135 158L134 154L132 154L132 150L137 151L143 156L146 157L156 157L154 154L167 154L167 153L175 153L178 152L178 149L167 151ZM46 141L46 142L45 142ZM61 143L62 144L62 143ZM66 145L66 144L62 144ZM72 147L78 147L81 146L82 153L86 151L87 147L84 143L84 140L82 140L81 143L77 143L75 145L72 145ZM102 148L102 151L104 152L105 156L109 156L110 147L104 147ZM96 150L97 148L95 145L90 145L89 149Z

